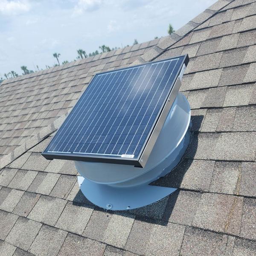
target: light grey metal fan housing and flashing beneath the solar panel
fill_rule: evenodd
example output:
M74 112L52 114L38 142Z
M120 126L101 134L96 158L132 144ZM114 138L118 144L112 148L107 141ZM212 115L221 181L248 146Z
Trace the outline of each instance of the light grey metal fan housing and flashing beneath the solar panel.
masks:
M190 141L190 107L178 93L144 168L75 161L85 197L104 209L125 210L152 204L175 188L148 185L177 166Z

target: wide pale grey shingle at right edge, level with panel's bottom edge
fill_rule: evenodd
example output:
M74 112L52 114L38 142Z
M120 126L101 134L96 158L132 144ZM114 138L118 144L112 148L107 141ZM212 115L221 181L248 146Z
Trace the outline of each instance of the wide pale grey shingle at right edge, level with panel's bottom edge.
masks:
M254 161L256 132L221 133L212 158L216 160Z

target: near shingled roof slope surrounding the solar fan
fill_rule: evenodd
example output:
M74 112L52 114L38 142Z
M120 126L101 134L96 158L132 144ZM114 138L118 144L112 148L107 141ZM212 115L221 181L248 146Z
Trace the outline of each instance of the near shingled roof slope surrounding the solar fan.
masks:
M0 160L0 254L255 255L255 21L256 2L220 0L133 63L190 56L181 91L192 108L192 142L154 182L175 193L123 212L91 204L73 162L40 154L61 116Z

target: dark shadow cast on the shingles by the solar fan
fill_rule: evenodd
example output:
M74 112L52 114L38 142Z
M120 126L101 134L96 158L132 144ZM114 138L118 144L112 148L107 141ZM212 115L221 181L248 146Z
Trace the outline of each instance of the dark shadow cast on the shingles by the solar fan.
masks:
M140 221L145 221L153 224L160 224L166 226L170 216L172 215L172 211L175 207L175 203L177 201L178 195L180 193L180 185L182 183L183 177L189 169L192 159L195 156L195 152L198 147L198 133L196 131L199 130L201 123L203 122L204 116L192 116L192 138L184 155L189 155L189 159L183 157L180 163L164 177L154 181L151 185L154 186L166 186L166 187L174 187L177 190L171 195L157 201L154 204L147 205L145 207L124 210L124 211L111 211L102 209L100 207L95 206L91 203L79 190L73 199L74 205L79 205L81 207L92 207L94 206L96 210L101 212L109 212L110 214L122 215L125 217L136 218Z

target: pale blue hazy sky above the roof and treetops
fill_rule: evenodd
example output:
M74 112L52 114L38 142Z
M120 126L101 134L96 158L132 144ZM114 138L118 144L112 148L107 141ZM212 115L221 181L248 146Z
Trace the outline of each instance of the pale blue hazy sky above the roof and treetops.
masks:
M105 44L132 45L168 35L216 0L0 0L0 78L21 66L45 69Z

